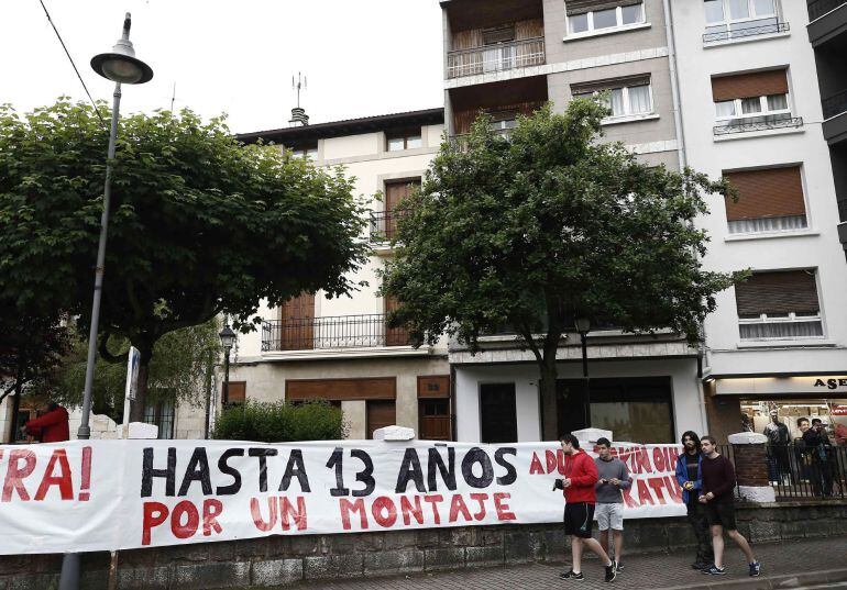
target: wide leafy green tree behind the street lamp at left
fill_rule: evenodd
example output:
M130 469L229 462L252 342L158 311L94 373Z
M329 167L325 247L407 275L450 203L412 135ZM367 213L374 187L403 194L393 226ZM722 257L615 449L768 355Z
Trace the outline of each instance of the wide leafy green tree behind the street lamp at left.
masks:
M12 311L61 309L87 332L108 135L84 103L0 107L0 292ZM342 170L244 146L223 119L187 110L124 118L113 164L99 349L112 358L114 338L141 352L133 420L165 334L222 312L251 330L262 299L356 288L364 215Z

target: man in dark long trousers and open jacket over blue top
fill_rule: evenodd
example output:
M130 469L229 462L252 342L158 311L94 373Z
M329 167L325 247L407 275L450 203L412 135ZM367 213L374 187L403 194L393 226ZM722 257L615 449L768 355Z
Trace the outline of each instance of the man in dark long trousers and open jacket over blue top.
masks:
M712 534L708 530L706 506L700 503L701 464L703 455L700 452L700 436L692 431L682 434L683 453L676 458L676 481L682 488L682 501L689 524L697 539L697 556L691 565L694 569L706 569L714 561L712 553Z

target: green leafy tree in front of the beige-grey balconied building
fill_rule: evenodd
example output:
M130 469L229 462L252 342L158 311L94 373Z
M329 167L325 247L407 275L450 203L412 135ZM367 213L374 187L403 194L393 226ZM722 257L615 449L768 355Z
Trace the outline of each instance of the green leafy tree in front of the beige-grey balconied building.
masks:
M602 143L598 101L573 100L519 120L508 140L484 118L461 145L444 143L420 191L404 204L382 290L402 302L389 321L417 342L515 330L554 404L556 353L573 320L698 339L715 293L741 275L703 270L704 193L725 193L692 170L650 168ZM552 414L551 412L544 412ZM544 435L556 432L547 416Z

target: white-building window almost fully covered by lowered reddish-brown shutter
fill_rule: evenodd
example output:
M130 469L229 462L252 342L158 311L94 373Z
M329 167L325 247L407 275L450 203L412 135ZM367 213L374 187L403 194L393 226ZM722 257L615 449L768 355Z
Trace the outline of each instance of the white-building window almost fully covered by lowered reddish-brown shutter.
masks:
M726 199L730 234L783 232L806 226L800 166L727 172L738 200Z

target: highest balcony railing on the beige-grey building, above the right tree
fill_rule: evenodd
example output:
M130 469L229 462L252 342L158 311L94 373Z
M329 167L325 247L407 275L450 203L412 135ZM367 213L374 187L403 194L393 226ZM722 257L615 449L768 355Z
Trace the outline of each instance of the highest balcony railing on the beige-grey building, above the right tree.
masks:
M544 40L534 37L447 54L447 77L461 78L544 64Z

